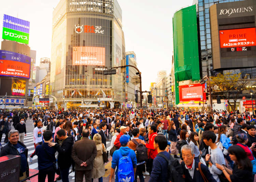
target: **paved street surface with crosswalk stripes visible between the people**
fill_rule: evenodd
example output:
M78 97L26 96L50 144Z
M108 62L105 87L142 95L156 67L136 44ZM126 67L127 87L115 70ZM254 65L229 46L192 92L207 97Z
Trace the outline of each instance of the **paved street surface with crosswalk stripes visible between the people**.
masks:
M32 125L33 124L32 122L33 122L33 120L27 120L27 122L26 122L27 136L25 136L24 144L28 148L28 156L30 156L31 153L34 152L34 143L33 143L33 129L34 129L34 126ZM5 134L3 134L2 141L1 141L3 146L5 145L5 143L3 143L4 137L5 137ZM107 146L107 150L108 151L110 150L110 144L111 144L111 140L106 142L106 146ZM57 157L57 154L58 154L58 152L56 152L56 157ZM109 181L111 161L112 161L112 157L110 155L109 155L109 161L110 161L109 163L105 164L105 168L107 168L108 170L105 172L105 175L103 177L103 181ZM32 162L28 162L28 164L29 164L29 172L30 172L29 176L32 176L32 175L38 173L37 156L34 156L33 157L33 161ZM57 177L57 175L56 175L56 177ZM71 172L69 174L69 180L71 182L74 182L75 181L74 179L75 179L75 172ZM145 181L148 181L148 179L149 179L149 177L147 177ZM28 180L28 182L29 181L37 182L38 181L38 177L35 176L35 177L31 178L30 180ZM47 179L46 179L46 181L47 181ZM59 180L59 181L61 182L62 180ZM98 181L98 180L96 180L96 181ZM140 181L140 180L138 179L138 181Z

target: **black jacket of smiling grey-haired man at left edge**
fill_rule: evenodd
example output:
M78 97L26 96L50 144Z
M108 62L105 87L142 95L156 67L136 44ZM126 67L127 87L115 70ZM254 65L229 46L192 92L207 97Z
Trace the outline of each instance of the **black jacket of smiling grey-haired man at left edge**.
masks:
M22 146L25 148L25 156L26 156L26 158L28 158L28 149L27 149L26 145L24 145L24 144L23 144L22 142L20 142L20 141L18 141L18 143L19 143L20 145L22 145ZM1 153L0 153L0 157L7 156L7 155L20 156L18 150L11 144L11 142L8 142L8 144L5 145L5 146L2 148ZM20 165L20 169L21 169L21 165ZM28 162L27 162L26 175L29 176L29 165L28 165ZM23 173L22 173L21 170L20 170L19 176L20 176L20 177L23 176Z

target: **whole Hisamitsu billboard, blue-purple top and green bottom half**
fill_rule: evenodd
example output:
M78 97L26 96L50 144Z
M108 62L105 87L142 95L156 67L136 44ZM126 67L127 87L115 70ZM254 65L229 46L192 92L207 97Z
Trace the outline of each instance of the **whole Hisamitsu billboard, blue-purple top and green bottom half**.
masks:
M2 38L28 44L29 21L3 15Z

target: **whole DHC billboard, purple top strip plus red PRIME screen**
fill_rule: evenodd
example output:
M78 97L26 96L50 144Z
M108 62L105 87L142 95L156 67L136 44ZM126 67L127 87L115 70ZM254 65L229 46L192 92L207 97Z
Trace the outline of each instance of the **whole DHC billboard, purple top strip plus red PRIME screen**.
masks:
M10 51L0 50L0 76L30 78L31 58Z

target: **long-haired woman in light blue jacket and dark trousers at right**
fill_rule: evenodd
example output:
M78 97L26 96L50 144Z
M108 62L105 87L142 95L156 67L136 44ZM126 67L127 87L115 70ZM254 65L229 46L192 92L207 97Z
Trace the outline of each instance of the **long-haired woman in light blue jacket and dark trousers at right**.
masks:
M222 143L222 146L224 148L224 150L223 150L224 158L229 162L230 166L233 168L234 162L230 159L229 154L227 152L228 148L232 144L231 144L230 139L227 138L226 132L227 132L227 127L225 125L219 126L217 142L221 142Z

